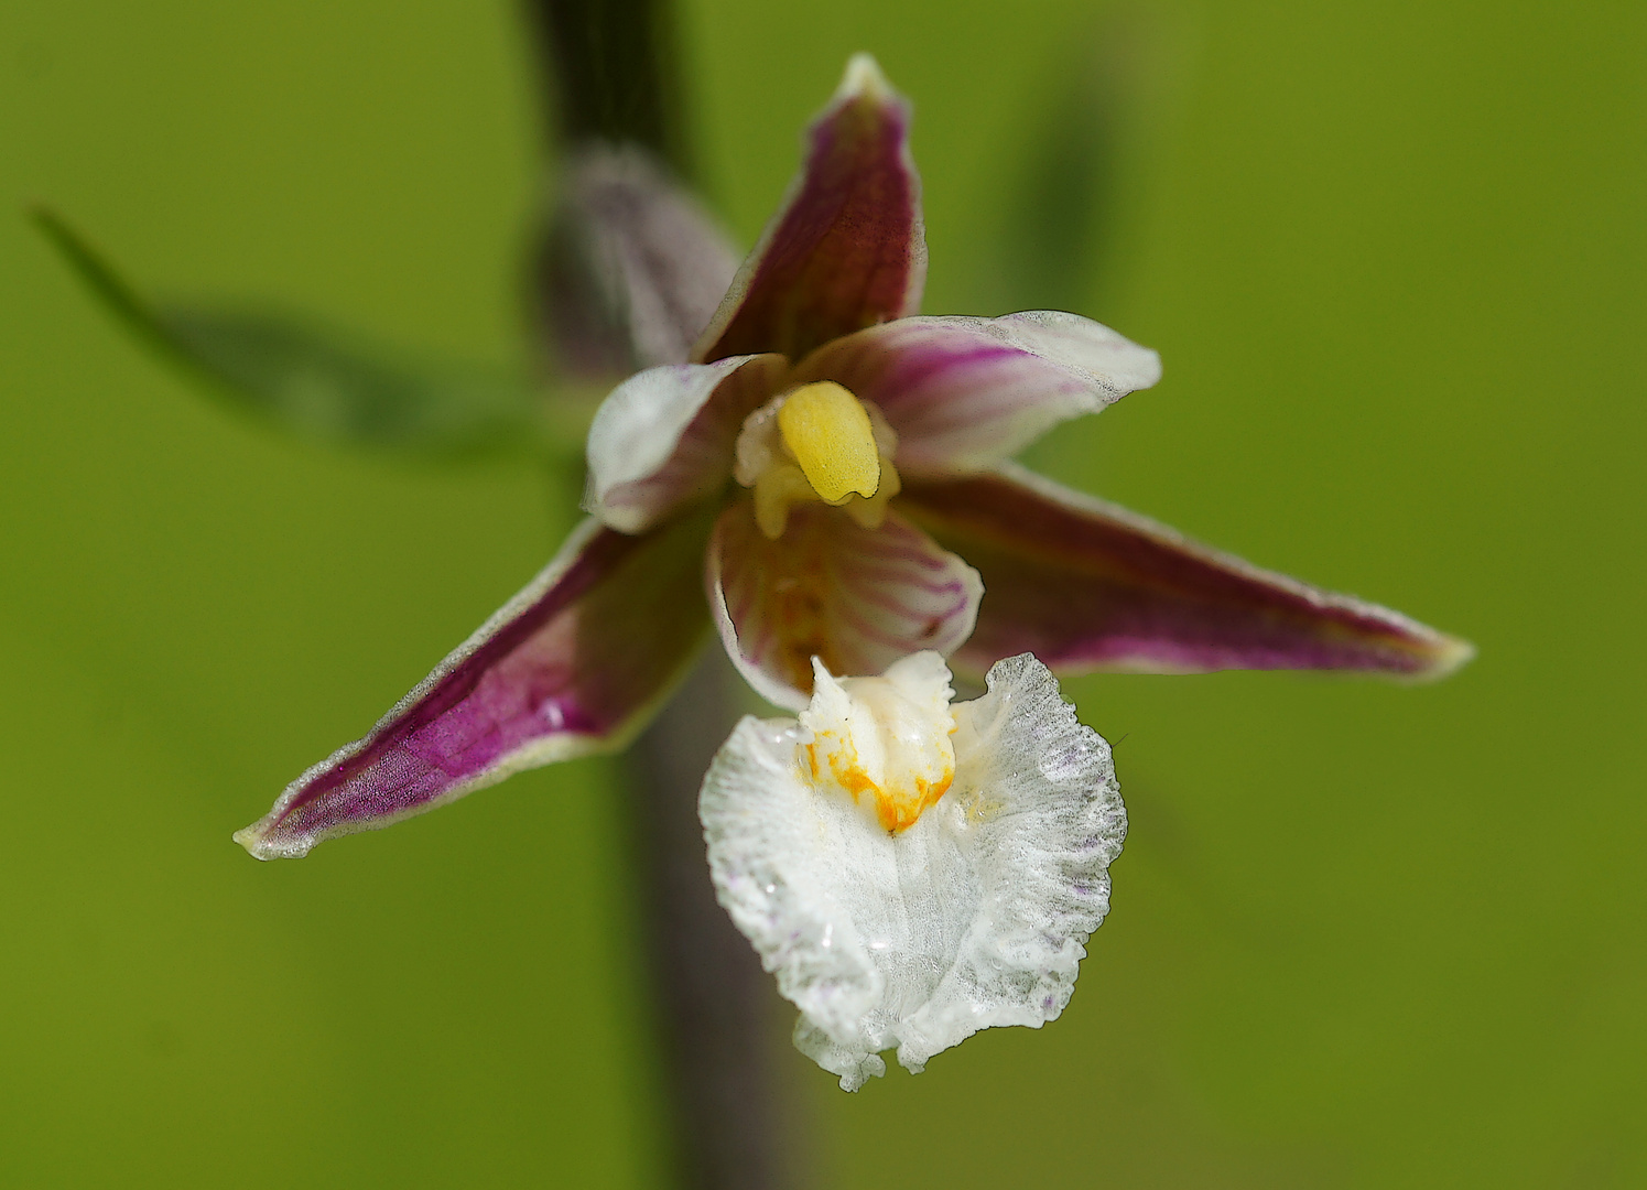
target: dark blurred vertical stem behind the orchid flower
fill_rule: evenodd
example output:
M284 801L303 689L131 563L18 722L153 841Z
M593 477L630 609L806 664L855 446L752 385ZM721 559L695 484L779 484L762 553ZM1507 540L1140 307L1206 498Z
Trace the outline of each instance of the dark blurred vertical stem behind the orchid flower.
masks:
M639 143L687 173L667 0L527 0L562 153ZM786 1144L771 981L715 902L698 786L738 719L738 679L715 646L624 765L674 1182L688 1190L796 1185Z

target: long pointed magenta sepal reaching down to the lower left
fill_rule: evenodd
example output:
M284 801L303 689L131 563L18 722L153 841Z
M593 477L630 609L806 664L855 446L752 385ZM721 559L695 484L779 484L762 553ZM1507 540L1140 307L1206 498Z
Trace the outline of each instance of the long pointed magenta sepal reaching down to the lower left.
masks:
M535 768L621 747L707 628L707 516L629 537L598 521L371 733L287 786L236 834L259 859L402 818Z

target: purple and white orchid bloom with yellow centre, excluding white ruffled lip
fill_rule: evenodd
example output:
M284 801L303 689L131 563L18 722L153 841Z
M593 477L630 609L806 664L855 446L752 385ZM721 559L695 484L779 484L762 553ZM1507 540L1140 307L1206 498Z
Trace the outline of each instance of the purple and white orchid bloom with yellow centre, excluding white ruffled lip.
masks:
M712 625L791 710L815 694L814 658L878 674L934 651L978 679L1021 653L1064 672L1400 677L1469 656L1011 463L1054 424L1155 384L1159 361L1071 313L917 316L907 130L906 102L855 58L692 358L598 410L591 516L371 733L236 836L254 855L623 747Z

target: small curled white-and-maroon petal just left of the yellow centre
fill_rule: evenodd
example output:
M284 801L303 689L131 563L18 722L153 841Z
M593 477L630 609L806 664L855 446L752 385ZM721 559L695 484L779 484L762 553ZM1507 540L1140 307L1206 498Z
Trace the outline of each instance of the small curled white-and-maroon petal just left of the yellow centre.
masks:
M731 356L636 372L590 425L583 506L623 532L642 532L731 476L743 419L776 389L782 356Z

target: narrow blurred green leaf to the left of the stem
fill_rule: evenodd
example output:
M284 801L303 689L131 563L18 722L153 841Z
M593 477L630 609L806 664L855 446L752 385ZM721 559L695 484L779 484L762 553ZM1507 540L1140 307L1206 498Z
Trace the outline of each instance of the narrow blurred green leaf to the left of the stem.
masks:
M483 368L407 359L305 316L152 303L56 213L35 224L102 305L240 410L296 438L415 457L573 453L583 419Z

